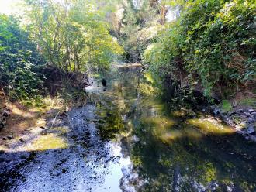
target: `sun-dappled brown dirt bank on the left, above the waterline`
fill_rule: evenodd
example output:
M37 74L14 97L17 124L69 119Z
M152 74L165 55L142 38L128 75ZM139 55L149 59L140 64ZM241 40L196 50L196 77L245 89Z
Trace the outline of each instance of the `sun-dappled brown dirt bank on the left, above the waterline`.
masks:
M19 139L24 137L25 132L35 133L40 127L46 127L46 118L55 117L64 110L64 105L58 97L47 97L32 100L26 105L9 103L9 108L12 112L7 119L6 129L2 130L0 136L12 135L13 139L9 142L19 142ZM1 139L0 144L4 145L5 141ZM9 148L5 147L5 149Z

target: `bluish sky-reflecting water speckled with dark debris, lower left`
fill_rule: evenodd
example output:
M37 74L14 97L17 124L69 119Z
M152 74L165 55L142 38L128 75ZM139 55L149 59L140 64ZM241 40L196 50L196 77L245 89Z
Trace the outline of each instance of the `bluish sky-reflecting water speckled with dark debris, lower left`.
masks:
M123 158L121 149L114 142L103 141L99 137L99 130L96 128L98 119L95 105L90 103L72 108L67 115L47 119L46 127L34 136L40 139L42 135L47 137L54 134L56 138L49 139L58 141L64 138L63 141L68 146L63 149L48 149L48 146L33 146L34 142L26 142L26 146L33 151L26 152L24 149L22 152L21 147L19 152L2 153L2 190L119 191L119 180L123 177L121 168L126 166L129 170L130 160ZM113 171L117 172L114 175L116 178L112 178ZM122 184L122 188L126 188L126 183Z

